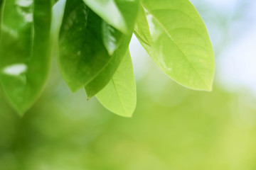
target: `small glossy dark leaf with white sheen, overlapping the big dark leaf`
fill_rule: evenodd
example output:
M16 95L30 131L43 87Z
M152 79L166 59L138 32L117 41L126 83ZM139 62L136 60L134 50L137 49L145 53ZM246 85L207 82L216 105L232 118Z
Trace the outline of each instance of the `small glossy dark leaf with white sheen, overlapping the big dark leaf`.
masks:
M113 28L105 21L102 21L102 38L103 43L109 55L113 55L122 42L123 34Z

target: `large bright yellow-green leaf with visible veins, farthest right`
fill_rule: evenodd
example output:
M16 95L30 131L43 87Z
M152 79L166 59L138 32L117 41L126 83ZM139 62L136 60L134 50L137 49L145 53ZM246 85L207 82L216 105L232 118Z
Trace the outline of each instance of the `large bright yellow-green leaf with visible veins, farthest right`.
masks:
M213 47L203 20L188 0L142 0L152 45L142 45L169 77L191 89L212 89Z

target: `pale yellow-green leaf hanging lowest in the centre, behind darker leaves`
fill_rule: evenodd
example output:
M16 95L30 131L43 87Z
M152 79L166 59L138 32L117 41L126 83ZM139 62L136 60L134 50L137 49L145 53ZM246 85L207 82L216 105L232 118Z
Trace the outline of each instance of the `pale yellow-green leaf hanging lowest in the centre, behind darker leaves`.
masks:
M136 107L136 84L132 59L127 51L117 72L97 95L97 99L108 110L117 115L131 117Z

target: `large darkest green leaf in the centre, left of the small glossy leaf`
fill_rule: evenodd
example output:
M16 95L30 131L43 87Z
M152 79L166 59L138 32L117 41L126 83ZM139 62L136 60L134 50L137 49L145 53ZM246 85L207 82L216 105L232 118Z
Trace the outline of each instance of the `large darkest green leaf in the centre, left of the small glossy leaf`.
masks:
M102 42L102 19L82 0L67 0L59 46L60 71L72 91L95 79L112 58Z

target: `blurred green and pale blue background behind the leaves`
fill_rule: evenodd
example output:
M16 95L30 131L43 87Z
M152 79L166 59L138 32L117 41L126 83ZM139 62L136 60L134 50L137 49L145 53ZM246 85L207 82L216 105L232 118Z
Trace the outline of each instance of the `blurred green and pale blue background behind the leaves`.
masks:
M137 109L122 118L72 94L53 59L23 118L0 91L0 170L255 170L256 1L192 2L215 49L212 92L176 84L133 38Z

